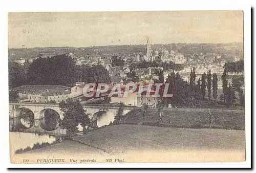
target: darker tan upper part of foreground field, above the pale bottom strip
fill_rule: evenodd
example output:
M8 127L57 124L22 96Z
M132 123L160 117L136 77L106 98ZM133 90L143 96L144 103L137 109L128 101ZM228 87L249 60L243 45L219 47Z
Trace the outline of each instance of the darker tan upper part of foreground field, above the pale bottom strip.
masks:
M112 125L74 140L105 149L108 153L134 150L238 149L245 147L244 131L189 129L146 125Z

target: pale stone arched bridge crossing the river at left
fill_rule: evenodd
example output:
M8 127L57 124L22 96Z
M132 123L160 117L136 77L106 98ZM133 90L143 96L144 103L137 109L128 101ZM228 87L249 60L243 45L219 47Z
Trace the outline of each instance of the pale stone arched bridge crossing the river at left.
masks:
M114 121L118 105L83 105L83 109L89 118L93 119L94 127L100 127ZM124 106L124 114L132 109L134 106ZM46 116L46 112L49 117ZM10 131L64 135L65 129L57 124L62 118L63 112L60 111L58 104L9 102Z

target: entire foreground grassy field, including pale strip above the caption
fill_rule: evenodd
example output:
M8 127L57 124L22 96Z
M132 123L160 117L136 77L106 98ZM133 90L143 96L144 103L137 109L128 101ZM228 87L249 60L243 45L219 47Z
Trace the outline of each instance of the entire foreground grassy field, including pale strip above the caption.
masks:
M110 125L75 141L14 155L12 162L23 159L65 158L124 159L125 162L223 162L244 161L245 132L227 129L189 129L146 125Z

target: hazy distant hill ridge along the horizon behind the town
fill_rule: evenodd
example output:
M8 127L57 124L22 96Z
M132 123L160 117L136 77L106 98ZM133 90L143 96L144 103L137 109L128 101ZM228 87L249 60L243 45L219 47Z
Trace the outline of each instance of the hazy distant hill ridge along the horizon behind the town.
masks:
M234 54L241 53L243 51L242 42L230 43L230 44L153 44L152 49L173 49L183 54L189 53L219 53L219 54ZM91 46L84 48L74 47L47 47L47 48L10 48L9 59L29 59L33 57L45 57L53 56L56 54L73 53L76 56L111 56L117 55L129 55L131 53L143 53L145 52L145 45L122 45L122 46Z

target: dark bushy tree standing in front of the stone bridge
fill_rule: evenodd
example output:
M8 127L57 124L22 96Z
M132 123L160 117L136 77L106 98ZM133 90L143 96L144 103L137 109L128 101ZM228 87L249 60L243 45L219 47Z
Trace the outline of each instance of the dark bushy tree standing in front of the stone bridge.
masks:
M68 99L66 102L60 102L59 107L64 112L59 126L66 129L69 138L72 138L78 132L78 124L83 127L83 132L86 132L86 127L90 124L90 120L79 101Z

